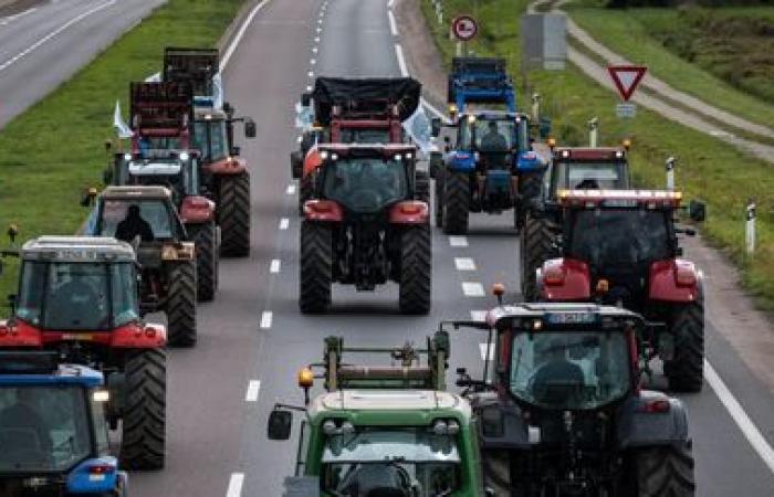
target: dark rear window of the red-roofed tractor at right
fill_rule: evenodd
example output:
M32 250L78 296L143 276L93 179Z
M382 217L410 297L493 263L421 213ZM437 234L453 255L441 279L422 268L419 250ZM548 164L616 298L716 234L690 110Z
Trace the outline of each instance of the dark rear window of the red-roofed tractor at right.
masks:
M668 214L646 209L589 209L572 218L568 255L597 268L649 264L672 256Z

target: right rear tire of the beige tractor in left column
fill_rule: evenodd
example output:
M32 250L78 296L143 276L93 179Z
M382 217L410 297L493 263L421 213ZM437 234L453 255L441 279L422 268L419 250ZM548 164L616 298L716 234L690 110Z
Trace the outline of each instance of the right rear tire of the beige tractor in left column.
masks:
M195 262L175 264L169 275L169 295L167 296L169 347L196 345L196 288Z

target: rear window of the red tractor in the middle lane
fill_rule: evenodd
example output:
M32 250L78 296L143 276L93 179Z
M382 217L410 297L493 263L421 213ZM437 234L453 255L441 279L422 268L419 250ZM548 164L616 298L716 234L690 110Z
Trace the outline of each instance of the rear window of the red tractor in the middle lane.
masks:
M323 195L351 211L374 213L409 194L402 160L353 157L325 166Z

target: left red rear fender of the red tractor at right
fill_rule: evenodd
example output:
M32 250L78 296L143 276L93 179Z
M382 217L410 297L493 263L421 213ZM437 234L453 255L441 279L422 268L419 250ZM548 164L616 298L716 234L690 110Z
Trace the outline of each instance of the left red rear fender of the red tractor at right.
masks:
M552 258L537 269L543 300L588 300L592 297L588 264L574 258Z

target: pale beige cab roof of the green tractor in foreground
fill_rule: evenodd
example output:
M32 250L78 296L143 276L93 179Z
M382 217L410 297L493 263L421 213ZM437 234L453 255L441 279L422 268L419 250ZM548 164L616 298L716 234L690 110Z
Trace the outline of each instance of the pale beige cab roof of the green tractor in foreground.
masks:
M363 419L374 415L389 420L400 412L401 415L414 414L414 421L427 419L430 423L439 416L439 411L441 415L453 412L464 420L471 415L470 405L461 396L433 390L337 390L317 396L310 408L310 415L346 413Z

